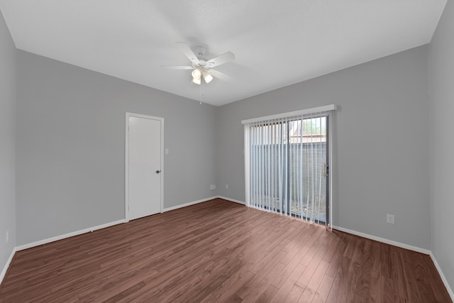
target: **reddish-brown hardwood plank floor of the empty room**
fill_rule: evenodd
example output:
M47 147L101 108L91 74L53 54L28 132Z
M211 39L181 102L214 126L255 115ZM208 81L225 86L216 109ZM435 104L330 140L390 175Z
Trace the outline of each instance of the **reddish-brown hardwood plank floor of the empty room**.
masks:
M16 253L0 302L452 302L431 258L215 199Z

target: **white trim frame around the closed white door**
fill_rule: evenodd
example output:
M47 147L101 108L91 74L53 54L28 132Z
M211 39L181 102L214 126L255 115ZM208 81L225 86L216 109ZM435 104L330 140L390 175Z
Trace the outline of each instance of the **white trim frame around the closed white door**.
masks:
M143 114L134 114L126 111L125 114L125 221L129 221L129 117L137 117L143 119L157 120L161 123L161 167L160 167L160 182L161 182L161 194L160 194L160 212L164 209L164 118L148 116Z

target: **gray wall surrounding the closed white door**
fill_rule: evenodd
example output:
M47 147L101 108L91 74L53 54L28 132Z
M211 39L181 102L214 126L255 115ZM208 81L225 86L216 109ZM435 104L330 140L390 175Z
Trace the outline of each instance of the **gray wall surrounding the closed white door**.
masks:
M17 85L18 245L124 219L126 111L165 119L165 208L216 195L216 107L21 50Z

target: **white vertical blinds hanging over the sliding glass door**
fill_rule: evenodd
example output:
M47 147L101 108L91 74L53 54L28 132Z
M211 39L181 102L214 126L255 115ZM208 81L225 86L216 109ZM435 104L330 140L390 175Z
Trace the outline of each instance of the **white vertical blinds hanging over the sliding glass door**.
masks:
M328 116L319 111L243 122L248 206L330 223Z

